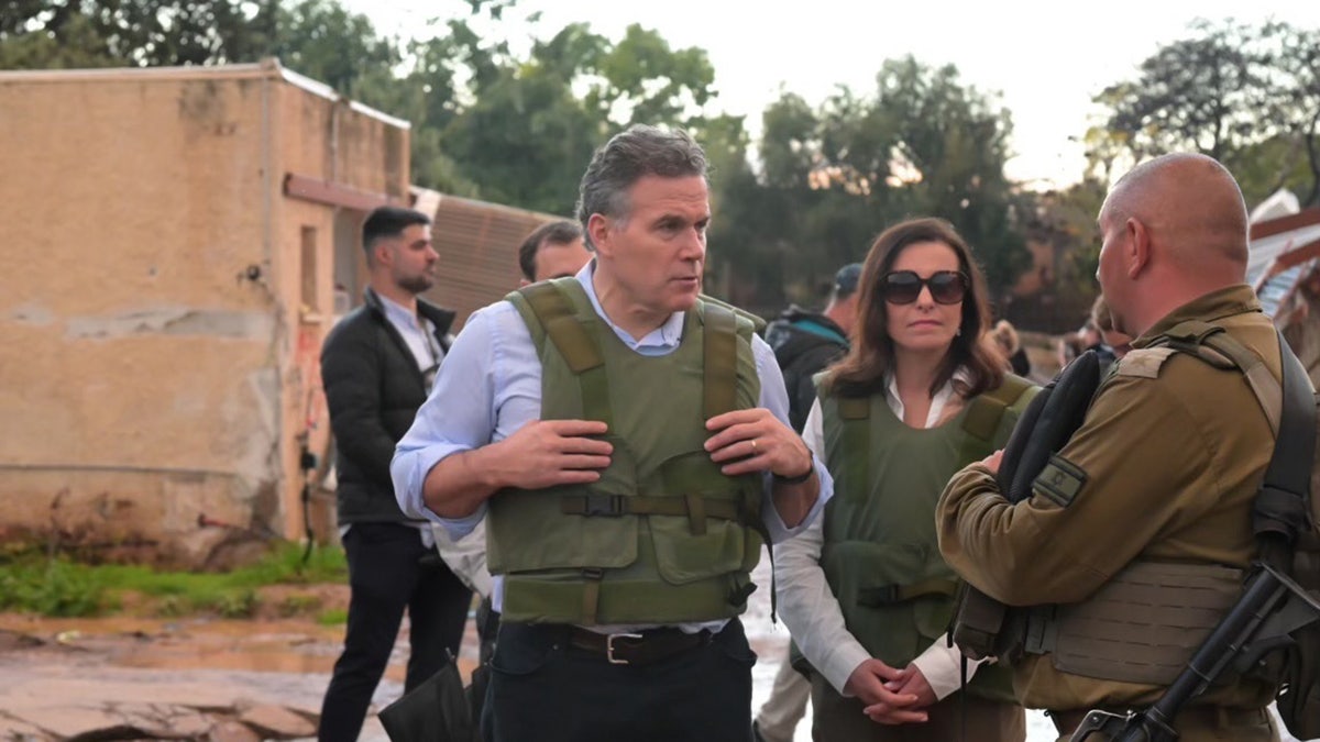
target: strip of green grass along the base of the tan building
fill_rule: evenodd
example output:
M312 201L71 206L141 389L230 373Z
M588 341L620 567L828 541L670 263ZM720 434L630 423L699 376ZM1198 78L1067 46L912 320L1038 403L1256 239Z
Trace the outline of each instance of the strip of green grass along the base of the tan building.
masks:
M317 548L302 564L302 548L285 545L261 561L223 573L158 572L137 565L86 565L62 557L0 557L0 610L50 617L96 615L125 593L157 598L160 615L215 613L246 618L256 613L257 588L276 584L345 582L341 548Z

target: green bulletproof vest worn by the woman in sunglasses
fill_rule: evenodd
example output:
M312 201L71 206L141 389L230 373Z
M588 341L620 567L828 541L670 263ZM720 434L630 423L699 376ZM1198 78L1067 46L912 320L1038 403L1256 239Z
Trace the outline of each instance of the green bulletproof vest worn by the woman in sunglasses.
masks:
M950 421L920 430L883 393L821 399L834 496L820 564L871 656L907 667L949 628L958 581L936 543L936 503L954 471L1003 448L1038 389L1008 375ZM1014 701L1010 669L979 668L968 692Z

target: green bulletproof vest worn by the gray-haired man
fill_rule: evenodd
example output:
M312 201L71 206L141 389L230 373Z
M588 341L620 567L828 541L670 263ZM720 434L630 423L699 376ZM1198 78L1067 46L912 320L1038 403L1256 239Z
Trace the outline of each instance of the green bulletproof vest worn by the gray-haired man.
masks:
M490 500L490 569L504 621L680 623L730 618L755 589L762 479L726 477L705 421L752 408L752 325L698 301L678 347L645 356L595 313L576 279L508 296L541 360L543 420L601 420L614 446L591 485L504 490Z

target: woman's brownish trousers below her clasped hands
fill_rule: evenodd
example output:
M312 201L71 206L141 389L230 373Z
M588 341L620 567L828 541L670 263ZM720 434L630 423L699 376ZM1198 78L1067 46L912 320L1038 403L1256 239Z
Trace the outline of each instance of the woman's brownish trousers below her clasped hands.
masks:
M859 698L843 697L820 673L812 673L812 739L828 742L1022 742L1027 714L1016 704L987 701L964 693L927 706L923 724L884 725L871 721Z

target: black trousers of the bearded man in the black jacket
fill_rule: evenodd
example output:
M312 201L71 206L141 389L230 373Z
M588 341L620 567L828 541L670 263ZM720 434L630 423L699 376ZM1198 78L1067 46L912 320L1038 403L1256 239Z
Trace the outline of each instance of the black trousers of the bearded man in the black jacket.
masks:
M425 548L417 528L399 523L355 523L343 537L348 557L348 628L343 654L321 706L322 742L352 742L371 696L389 664L404 609L411 621L405 691L412 691L458 656L473 593ZM436 558L432 558L432 557Z

